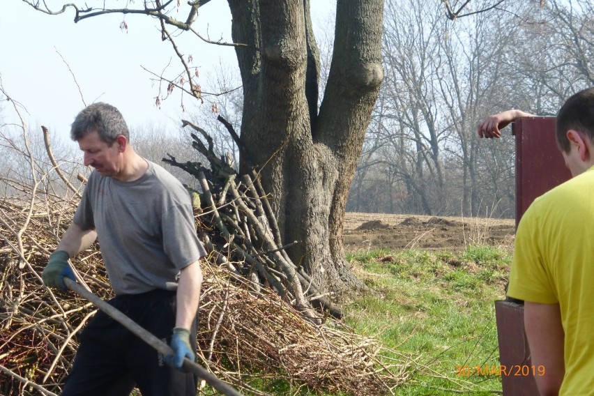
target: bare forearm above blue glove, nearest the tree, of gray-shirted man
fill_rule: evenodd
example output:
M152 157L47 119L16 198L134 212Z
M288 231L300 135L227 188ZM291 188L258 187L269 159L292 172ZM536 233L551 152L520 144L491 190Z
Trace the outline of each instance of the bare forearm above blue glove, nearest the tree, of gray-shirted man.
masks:
M181 270L176 296L176 327L190 328L200 302L202 270L195 261Z

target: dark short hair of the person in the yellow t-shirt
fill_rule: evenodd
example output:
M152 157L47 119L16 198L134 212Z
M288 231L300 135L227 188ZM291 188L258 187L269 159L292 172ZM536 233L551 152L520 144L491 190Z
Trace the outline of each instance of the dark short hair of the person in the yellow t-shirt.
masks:
M567 137L570 129L582 132L594 141L594 88L575 93L557 113L557 145L564 153L570 151Z

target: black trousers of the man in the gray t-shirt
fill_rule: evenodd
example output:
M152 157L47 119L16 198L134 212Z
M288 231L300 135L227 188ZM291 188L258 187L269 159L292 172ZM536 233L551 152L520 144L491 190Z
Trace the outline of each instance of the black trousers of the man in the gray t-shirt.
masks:
M160 340L171 341L176 292L153 290L117 296L109 304ZM190 343L196 349L195 319ZM170 367L161 353L103 312L82 330L80 347L63 396L127 396L137 386L142 396L196 396L197 376Z

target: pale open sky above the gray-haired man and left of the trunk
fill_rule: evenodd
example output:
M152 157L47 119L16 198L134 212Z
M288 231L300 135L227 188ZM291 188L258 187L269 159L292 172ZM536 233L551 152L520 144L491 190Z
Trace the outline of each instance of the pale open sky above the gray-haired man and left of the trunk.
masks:
M67 2L47 1L56 9ZM327 19L334 9L335 0L313 0L314 24ZM146 122L178 125L182 115L178 97L156 107L158 84L144 70L157 74L166 68L179 70L172 46L160 40L154 20L126 15L128 31L122 31L123 15L92 17L75 24L72 9L62 15L46 15L21 0L2 0L1 11L1 83L26 109L23 115L32 130L46 125L58 137L69 140L70 123L84 102L98 101L118 107L132 127ZM173 16L185 20L185 13ZM200 8L194 26L202 36L231 41L227 1L212 0ZM178 40L182 52L192 54L192 66L199 67L201 79L220 62L236 67L231 47L209 45L190 35L184 33ZM13 117L6 102L0 106L5 121Z

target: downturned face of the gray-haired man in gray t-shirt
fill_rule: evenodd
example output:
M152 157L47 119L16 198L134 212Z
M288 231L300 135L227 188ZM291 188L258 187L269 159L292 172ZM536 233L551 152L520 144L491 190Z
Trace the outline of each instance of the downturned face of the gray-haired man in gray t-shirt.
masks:
M98 132L93 130L78 140L78 146L84 152L85 166L95 168L101 176L117 178L123 162L117 140L110 147Z

